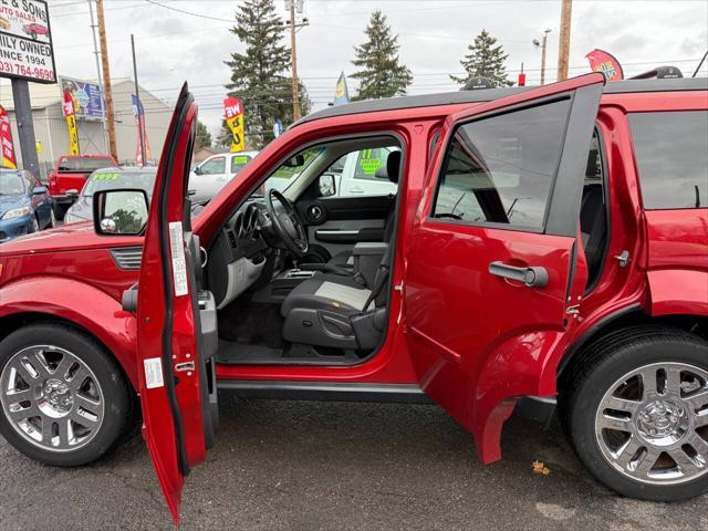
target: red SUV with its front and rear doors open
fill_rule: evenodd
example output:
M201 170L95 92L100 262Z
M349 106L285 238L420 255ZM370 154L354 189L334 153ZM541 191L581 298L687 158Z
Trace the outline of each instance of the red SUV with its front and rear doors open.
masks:
M197 214L196 124L185 88L149 209L104 190L95 226L0 249L0 430L20 451L96 459L139 394L178 518L218 389L434 400L487 464L514 408L548 421L558 400L608 487L708 490L705 79L327 108ZM362 191L337 194L357 152ZM377 181L396 192L368 194Z

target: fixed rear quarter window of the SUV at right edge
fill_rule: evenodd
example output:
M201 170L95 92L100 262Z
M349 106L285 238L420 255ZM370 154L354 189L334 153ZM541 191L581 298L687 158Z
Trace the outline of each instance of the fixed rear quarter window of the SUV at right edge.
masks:
M708 112L629 114L647 210L708 206Z

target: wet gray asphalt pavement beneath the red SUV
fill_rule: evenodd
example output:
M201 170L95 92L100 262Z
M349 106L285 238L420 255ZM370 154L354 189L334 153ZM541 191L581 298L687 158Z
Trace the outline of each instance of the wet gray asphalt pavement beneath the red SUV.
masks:
M436 406L221 396L208 461L187 480L184 529L708 530L708 496L623 499L592 479L558 426L512 418L483 467ZM100 462L55 469L0 439L0 529L170 529L137 431ZM533 471L543 461L548 476Z

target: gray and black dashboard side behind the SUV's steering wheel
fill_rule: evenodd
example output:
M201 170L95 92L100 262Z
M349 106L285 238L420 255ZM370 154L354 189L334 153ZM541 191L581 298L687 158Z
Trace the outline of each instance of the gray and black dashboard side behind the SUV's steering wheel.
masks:
M267 219L262 201L247 201L221 228L207 263L217 309L231 303L264 272L272 253L261 231Z

